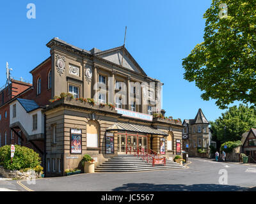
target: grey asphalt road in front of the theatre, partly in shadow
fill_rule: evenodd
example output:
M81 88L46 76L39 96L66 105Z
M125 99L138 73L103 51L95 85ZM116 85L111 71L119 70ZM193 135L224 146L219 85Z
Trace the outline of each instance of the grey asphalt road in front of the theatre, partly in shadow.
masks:
M17 191L247 191L256 186L256 166L189 158L189 168L134 173L83 173L68 177L1 180Z

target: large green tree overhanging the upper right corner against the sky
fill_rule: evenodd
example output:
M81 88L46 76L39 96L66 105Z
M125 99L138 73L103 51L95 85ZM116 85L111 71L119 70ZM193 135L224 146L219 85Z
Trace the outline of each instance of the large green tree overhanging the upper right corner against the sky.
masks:
M220 108L236 100L255 104L256 0L213 0L204 18L204 41L182 59L184 78Z

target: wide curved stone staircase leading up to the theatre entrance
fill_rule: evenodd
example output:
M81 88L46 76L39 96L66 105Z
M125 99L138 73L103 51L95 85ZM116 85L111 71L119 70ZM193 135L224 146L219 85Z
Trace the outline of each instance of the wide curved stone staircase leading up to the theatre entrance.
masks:
M95 168L95 172L129 172L129 171L150 171L184 168L184 166L171 160L166 160L166 165L147 163L141 157L133 155L118 155L105 161Z

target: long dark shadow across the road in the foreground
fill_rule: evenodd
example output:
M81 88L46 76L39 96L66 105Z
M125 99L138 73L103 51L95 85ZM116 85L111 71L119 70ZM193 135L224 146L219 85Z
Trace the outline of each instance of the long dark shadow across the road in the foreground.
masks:
M246 187L220 184L123 184L113 191L246 191Z

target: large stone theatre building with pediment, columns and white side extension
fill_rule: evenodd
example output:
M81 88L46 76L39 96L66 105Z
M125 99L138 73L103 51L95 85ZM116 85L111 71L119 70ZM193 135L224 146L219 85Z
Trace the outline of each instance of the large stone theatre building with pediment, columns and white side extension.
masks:
M118 154L181 154L183 126L164 117L163 84L124 46L88 51L53 38L47 47L33 85L8 103L13 134L40 144L45 175L77 168L84 154L96 166Z

